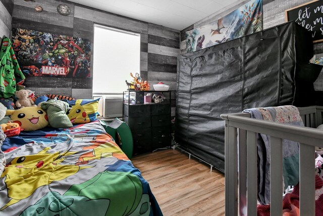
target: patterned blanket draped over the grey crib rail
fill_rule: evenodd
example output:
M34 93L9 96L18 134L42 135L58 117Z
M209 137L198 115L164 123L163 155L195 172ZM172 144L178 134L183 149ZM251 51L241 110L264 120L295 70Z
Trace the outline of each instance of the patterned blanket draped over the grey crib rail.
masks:
M283 124L304 126L295 106L279 106L246 109L252 118L275 121ZM283 180L285 188L299 182L299 143L283 142ZM270 203L270 136L257 135L257 198L261 204Z

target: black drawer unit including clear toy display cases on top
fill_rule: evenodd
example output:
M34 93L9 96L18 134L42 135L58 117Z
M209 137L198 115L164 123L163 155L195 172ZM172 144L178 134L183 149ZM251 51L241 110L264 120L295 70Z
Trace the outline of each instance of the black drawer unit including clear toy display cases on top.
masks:
M125 91L123 101L124 121L133 137L133 155L171 145L170 91Z

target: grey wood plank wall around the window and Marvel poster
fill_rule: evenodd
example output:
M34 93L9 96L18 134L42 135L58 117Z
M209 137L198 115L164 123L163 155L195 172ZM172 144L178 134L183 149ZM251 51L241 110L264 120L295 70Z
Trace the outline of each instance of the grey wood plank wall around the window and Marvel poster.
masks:
M69 16L62 16L56 11L57 6L62 3L71 8ZM35 12L34 7L37 5L43 8L43 12ZM12 17L12 27L15 28L82 37L92 42L94 23L140 33L141 77L148 80L151 88L152 84L159 81L170 85L170 90L174 90L172 113L175 116L176 65L180 53L180 31L64 0L43 0L36 3L16 0ZM93 72L93 66L91 67ZM37 94L64 94L80 99L92 97L92 78L84 81L75 78L27 77L25 84ZM122 84L126 90L126 84Z

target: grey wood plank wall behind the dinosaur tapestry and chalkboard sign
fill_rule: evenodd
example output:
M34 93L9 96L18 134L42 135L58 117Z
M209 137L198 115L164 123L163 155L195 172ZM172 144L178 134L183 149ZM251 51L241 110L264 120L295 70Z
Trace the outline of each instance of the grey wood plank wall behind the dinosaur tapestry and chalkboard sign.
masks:
M213 14L203 20L188 26L181 31L181 54L186 53L186 37L185 32L194 28L198 28L210 22L216 21L221 17L226 16L232 11L239 8L241 5L250 0L240 1L238 5L230 5L217 14ZM279 24L285 23L285 10L296 7L298 5L309 2L310 0L263 0L263 29L267 29ZM314 44L314 54L318 57L323 57L323 42ZM317 80L314 82L315 91L323 91L323 72L320 73Z

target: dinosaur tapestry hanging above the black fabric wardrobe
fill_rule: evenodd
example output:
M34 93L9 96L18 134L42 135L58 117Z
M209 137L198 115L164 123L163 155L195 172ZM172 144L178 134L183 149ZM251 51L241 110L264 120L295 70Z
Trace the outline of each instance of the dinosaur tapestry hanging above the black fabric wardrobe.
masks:
M251 0L230 14L207 25L186 31L187 52L262 30L262 0Z

